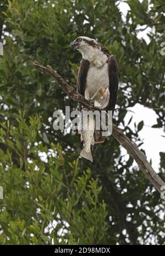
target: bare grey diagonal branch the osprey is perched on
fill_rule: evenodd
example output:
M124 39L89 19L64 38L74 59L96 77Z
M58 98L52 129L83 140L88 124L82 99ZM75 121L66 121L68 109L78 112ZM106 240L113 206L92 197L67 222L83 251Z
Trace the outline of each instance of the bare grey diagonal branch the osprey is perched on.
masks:
M56 71L52 69L51 66L43 66L38 62L33 62L35 66L37 66L42 71L50 74L53 78L59 83L59 85L63 88L63 90L72 98L72 100L81 103L81 105L87 107L91 110L96 110L94 106L90 104L82 95L75 91L75 89L70 86ZM146 178L151 182L151 184L158 190L158 192L162 192L162 186L165 186L165 183L161 179L161 177L153 170L152 166L146 159L146 156L142 151L139 150L137 145L120 130L115 124L112 126L112 135L114 138L118 140L118 142L127 149L128 153L132 156L132 158L139 165L139 168L143 171Z

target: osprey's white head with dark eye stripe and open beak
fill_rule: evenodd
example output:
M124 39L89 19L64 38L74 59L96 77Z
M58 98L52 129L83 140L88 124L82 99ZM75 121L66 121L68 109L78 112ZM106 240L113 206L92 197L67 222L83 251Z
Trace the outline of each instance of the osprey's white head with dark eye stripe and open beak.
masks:
M89 49L89 46L95 47L97 45L97 41L92 38L87 38L86 36L79 36L76 38L70 46L74 47L74 50L79 50L81 53Z

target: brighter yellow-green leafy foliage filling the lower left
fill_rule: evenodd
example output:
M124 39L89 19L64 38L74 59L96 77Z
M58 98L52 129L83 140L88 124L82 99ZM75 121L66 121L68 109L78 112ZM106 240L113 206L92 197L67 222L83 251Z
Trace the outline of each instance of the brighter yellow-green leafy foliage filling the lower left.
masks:
M17 127L1 124L1 143L8 148L6 154L0 150L5 191L1 244L49 244L52 239L59 243L60 238L62 243L100 242L107 229L107 212L105 203L98 200L98 179L91 177L90 169L80 174L78 159L66 163L59 144L51 143L48 149L36 143L38 116L30 117L30 126L21 112L15 119ZM47 159L41 161L38 152L45 152Z

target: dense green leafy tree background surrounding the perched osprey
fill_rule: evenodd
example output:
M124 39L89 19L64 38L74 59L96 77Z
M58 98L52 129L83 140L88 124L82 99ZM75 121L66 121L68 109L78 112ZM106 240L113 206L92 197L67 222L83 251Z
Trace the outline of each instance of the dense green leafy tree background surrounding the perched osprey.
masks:
M13 0L0 3L0 200L1 244L164 244L164 201L133 159L123 159L109 137L94 164L79 158L78 134L54 131L53 111L76 103L32 61L51 65L75 87L81 56L69 44L86 35L116 56L120 84L114 123L136 144L125 124L139 103L164 127L164 1L125 1L122 18L113 0ZM138 39L151 28L150 43ZM158 147L152 145L151 147ZM165 180L165 154L158 167Z

